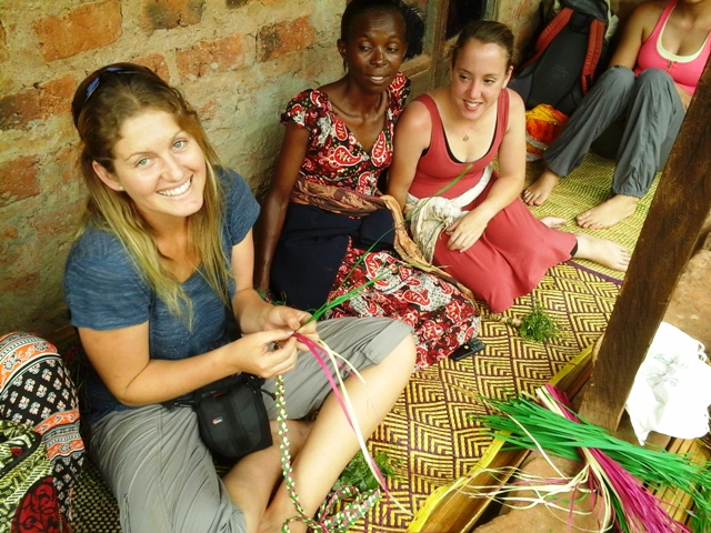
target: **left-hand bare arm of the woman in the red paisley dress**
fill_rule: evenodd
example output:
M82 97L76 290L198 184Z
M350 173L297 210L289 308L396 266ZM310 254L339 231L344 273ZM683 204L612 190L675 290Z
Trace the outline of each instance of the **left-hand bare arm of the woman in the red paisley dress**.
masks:
M269 290L271 262L284 225L289 195L297 182L299 169L301 169L307 153L309 135L310 132L306 128L300 128L294 122L287 124L281 152L277 160L277 171L257 223L257 258L253 282L262 294Z

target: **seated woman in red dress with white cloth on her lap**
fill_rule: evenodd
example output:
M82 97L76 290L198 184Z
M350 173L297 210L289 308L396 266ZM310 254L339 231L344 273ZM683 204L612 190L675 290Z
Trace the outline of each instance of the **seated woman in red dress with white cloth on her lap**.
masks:
M618 270L629 262L622 247L554 230L550 225L562 219L539 221L520 200L525 110L505 87L512 50L513 34L500 22L464 28L452 53L451 86L415 99L395 125L388 184L425 258L494 313L571 257Z

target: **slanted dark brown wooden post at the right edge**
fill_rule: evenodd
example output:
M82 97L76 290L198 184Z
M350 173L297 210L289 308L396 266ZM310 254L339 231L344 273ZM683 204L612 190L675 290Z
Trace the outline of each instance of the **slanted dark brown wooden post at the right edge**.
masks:
M707 61L642 227L580 415L614 431L711 209L711 61ZM711 310L702 320L711 320Z

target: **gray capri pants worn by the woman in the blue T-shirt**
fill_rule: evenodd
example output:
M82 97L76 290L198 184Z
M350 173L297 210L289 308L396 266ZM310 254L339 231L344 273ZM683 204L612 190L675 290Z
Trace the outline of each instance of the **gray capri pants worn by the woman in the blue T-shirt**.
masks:
M374 318L327 320L318 331L359 370L380 363L412 334L402 322ZM274 380L266 388L273 390ZM316 358L302 353L284 374L284 390L288 415L299 419L321 405L330 386ZM264 400L274 419L273 402ZM110 413L92 425L91 452L118 501L124 533L246 531L192 409L147 405Z

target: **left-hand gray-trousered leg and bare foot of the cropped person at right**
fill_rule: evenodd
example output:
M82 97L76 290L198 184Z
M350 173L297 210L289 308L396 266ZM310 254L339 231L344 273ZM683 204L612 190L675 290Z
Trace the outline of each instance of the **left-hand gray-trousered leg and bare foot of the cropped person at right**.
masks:
M547 170L523 191L523 201L541 205L558 184L590 150L590 145L611 123L624 115L634 86L634 73L624 67L608 69L582 99L560 135L543 152Z

